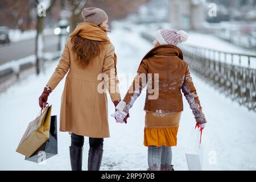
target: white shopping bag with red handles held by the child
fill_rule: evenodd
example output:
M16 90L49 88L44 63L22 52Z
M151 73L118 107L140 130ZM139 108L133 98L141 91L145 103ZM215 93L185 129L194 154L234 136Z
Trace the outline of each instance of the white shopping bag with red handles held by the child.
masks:
M203 145L201 144L201 132L203 129L196 128L192 130L188 140L188 148L185 153L188 170L201 171L203 169Z

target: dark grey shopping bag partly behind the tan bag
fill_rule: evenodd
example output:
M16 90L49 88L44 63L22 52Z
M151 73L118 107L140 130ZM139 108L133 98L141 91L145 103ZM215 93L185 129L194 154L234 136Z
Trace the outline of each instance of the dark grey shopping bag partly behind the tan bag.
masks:
M52 115L51 126L49 130L49 139L41 147L39 147L38 150L36 150L34 154L32 154L29 158L26 157L25 160L40 163L57 154L57 116Z

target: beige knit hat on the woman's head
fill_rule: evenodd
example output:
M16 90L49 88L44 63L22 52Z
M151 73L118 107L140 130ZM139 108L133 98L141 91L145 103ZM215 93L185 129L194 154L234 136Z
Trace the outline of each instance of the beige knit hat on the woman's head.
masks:
M96 7L86 7L82 10L82 18L84 18L84 22L100 25L102 22L108 19L108 15L105 13L105 11Z

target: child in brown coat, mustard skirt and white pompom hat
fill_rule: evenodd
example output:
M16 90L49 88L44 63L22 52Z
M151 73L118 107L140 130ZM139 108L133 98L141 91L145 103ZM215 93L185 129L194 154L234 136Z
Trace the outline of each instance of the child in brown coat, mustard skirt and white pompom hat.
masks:
M125 98L115 107L117 111L113 116L122 123L147 85L144 146L148 147L148 170L174 170L171 147L177 144L177 131L183 111L181 90L200 127L203 128L207 122L188 63L183 60L183 53L177 47L187 38L184 31L157 31L153 43L155 47L144 56L133 84Z

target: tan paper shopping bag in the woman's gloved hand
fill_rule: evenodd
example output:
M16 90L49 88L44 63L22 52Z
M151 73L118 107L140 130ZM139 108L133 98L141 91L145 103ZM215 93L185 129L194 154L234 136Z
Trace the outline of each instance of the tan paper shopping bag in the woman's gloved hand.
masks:
M16 152L30 157L49 139L51 110L52 106L48 105L34 121L28 124Z

